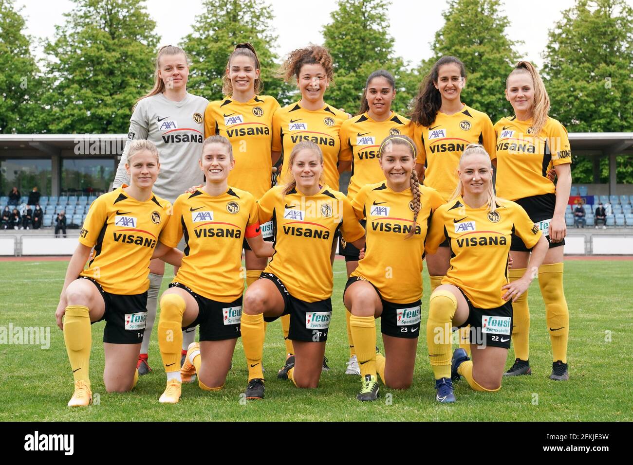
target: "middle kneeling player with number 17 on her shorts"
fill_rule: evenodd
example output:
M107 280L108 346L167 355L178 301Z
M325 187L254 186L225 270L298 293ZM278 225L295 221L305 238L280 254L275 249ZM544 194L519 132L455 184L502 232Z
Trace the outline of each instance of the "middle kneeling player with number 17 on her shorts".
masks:
M286 314L294 356L288 357L279 374L297 387L318 386L332 316L330 253L335 233L340 228L344 239L359 249L365 244L365 230L347 197L323 183L319 146L299 142L292 147L288 166L287 183L268 190L258 201L260 221L273 221L275 254L244 295L246 399L264 397L264 318L273 321Z

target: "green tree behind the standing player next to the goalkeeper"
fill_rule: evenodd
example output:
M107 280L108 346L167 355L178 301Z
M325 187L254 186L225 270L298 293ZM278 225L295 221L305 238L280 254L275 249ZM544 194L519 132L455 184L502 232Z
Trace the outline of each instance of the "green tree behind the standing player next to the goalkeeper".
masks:
M260 59L263 94L287 104L289 86L275 77L279 65L272 51L277 36L272 32L270 4L263 0L204 0L203 5L193 32L182 42L193 61L189 87L210 101L222 99L222 77L229 55L236 44L250 42Z

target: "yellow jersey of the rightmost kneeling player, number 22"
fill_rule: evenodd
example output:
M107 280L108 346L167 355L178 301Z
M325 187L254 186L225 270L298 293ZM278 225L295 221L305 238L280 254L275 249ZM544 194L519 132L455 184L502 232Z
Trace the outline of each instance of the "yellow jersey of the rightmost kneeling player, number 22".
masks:
M490 213L487 205L470 208L458 197L433 214L426 250L434 254L448 238L451 261L442 284L459 287L477 308L496 308L505 303L512 233L528 248L541 239L539 226L515 202L498 199Z

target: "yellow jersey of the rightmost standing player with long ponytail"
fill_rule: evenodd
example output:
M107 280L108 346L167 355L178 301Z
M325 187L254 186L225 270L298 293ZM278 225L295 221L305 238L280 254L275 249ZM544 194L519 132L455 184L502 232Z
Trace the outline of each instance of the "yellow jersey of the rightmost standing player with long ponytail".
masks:
M556 187L548 178L552 166L572 163L567 130L554 118L548 118L538 137L531 134L532 118L501 118L494 125L497 134L497 195L517 200L532 195L554 194ZM494 156L493 156L494 158Z

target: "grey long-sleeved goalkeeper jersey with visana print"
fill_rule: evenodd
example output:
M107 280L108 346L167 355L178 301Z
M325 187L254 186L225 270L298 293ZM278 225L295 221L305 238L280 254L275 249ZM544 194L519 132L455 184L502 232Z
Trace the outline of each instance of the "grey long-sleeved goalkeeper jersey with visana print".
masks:
M152 189L170 202L193 185L203 182L198 159L204 142L204 110L209 101L187 93L180 102L157 94L142 99L130 118L130 131L116 170L114 187L130 180L125 171L127 151L135 139L147 139L158 148L160 173Z

